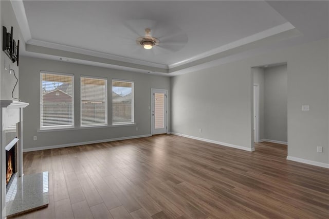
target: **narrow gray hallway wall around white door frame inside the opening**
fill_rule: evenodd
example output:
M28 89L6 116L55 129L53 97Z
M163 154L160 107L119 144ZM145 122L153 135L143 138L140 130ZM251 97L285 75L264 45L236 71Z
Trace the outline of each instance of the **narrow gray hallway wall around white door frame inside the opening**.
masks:
M264 115L264 69L253 67L253 83L259 85L259 140L265 139L265 115Z

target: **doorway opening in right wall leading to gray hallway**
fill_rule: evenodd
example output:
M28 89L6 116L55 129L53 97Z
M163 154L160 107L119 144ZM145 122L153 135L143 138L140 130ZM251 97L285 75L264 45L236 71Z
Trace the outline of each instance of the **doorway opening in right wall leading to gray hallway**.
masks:
M251 73L254 148L260 144L287 148L287 63L255 66Z

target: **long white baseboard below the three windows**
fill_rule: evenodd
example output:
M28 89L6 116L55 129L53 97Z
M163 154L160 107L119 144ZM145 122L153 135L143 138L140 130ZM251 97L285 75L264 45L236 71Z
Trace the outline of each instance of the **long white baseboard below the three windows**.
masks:
M103 143L103 142L108 142L108 141L119 141L119 140L133 139L133 138L144 138L144 137L150 137L150 136L152 136L152 135L137 135L137 136L128 136L128 137L121 137L121 138L109 138L109 139L96 140L96 141L85 141L85 142L77 142L77 143L69 143L69 144L51 145L51 146L46 146L46 147L27 148L27 149L23 149L23 152L41 151L41 150L56 149L56 148L66 148L66 147L72 147L72 146L78 146L78 145L84 145L84 144L95 144L95 143Z

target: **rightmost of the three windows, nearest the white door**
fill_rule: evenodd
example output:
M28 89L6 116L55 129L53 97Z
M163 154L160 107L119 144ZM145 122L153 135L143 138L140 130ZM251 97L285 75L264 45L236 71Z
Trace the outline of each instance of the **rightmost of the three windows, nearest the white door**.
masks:
M112 124L134 123L134 82L112 81Z

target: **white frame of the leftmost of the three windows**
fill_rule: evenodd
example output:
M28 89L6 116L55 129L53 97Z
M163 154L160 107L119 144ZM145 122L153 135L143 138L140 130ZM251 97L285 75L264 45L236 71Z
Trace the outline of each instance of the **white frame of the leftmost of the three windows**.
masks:
M64 75L72 77L72 124L71 125L47 125L42 126L43 118L43 94L42 94L42 75L51 74L51 75ZM75 118L74 118L74 75L61 72L53 71L40 71L40 130L51 130L51 129L71 129L75 127Z

